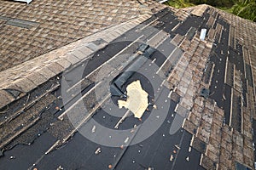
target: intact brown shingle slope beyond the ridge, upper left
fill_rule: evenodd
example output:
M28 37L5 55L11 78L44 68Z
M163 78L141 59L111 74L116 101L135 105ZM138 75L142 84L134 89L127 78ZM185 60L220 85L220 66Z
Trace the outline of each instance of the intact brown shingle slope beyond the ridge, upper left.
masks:
M1 0L0 3L0 71L157 7L153 1L142 5L136 0L35 0L28 5ZM9 26L11 19L38 24L31 29Z

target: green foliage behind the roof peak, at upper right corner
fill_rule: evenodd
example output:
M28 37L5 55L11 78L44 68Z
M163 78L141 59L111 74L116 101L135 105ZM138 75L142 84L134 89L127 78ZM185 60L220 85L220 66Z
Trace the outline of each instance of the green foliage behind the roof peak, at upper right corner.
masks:
M194 4L198 5L203 3L221 8L241 18L256 21L255 0L169 0L166 2L167 5L175 8L186 8L194 6Z

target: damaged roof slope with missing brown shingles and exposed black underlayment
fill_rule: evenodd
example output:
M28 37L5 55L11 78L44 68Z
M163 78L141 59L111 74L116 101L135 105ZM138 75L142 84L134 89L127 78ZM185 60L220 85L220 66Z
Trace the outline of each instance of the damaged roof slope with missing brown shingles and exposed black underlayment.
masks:
M149 3L161 9L0 72L3 168L254 168L255 23ZM141 119L117 108L137 80Z

